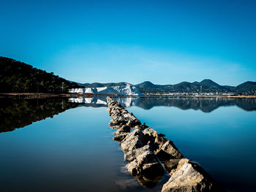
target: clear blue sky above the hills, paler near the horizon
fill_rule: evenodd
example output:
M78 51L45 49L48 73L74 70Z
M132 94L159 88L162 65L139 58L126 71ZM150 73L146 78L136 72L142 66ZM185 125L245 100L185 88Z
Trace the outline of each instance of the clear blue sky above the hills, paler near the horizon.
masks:
M256 81L256 1L0 0L0 55L76 82Z

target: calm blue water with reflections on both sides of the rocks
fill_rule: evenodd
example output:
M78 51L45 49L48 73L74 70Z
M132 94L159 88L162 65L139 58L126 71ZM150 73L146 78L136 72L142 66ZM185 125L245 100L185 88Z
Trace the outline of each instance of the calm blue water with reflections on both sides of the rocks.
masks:
M256 99L115 99L227 191L255 191ZM104 97L0 106L0 191L161 191L168 180L144 188L124 169Z

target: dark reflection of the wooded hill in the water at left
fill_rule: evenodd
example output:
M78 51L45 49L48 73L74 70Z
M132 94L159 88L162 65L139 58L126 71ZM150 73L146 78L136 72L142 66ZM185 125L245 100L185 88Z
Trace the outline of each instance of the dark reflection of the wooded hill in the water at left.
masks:
M64 112L78 104L67 99L0 99L0 133Z

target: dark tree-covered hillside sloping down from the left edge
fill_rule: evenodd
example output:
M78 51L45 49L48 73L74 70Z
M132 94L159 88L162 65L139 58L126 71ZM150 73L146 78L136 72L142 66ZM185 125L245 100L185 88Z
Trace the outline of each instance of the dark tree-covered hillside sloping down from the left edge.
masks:
M64 93L69 88L80 87L75 82L48 73L31 65L0 57L0 92L1 93Z

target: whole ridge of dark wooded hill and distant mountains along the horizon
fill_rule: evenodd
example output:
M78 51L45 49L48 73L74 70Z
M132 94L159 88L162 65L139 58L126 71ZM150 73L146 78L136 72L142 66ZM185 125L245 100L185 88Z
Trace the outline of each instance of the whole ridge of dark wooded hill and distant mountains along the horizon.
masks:
M150 81L132 85L129 82L93 82L79 83L65 80L45 72L29 64L12 58L0 56L0 87L1 93L12 92L67 92L70 88L109 88L129 86L135 87L140 93L249 93L256 94L256 82L246 81L237 86L219 85L210 79L200 82L179 82L177 84L157 85ZM112 91L113 92L113 91Z

